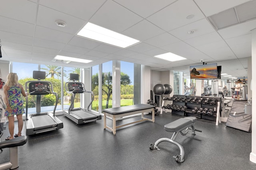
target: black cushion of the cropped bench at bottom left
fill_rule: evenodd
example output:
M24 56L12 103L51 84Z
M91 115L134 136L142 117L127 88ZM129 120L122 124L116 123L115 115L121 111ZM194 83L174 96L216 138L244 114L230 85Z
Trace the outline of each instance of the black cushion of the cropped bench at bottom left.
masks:
M3 148L12 148L16 146L22 146L26 144L27 141L28 141L27 136L19 136L11 140L5 140L3 142L0 142L0 148L3 149Z

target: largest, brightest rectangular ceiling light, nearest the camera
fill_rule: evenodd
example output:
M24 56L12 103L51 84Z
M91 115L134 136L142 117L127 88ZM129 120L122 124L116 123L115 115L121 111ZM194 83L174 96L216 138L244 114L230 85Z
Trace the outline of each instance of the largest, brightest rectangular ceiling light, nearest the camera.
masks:
M90 22L88 22L77 35L122 48L126 48L140 42L139 40L124 36Z

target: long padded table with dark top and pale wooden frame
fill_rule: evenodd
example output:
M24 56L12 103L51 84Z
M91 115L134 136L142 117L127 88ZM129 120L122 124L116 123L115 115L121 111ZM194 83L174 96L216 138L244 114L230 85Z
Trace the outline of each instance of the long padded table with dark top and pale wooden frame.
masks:
M126 125L130 125L133 123L138 123L141 121L152 121L155 122L155 112L154 112L154 106L153 105L148 105L148 104L138 104L138 105L131 105L131 106L123 106L123 107L114 107L114 108L108 108L104 109L104 129L108 128L113 132L113 134L116 134L116 128L120 128ZM148 119L144 117L144 112L152 112L152 119ZM125 116L130 116L130 115L135 115L141 113L141 119L138 121L134 121L131 123L127 123L124 125L119 125L116 126L116 119L125 117ZM110 117L113 120L113 127L108 127L106 125L106 117Z

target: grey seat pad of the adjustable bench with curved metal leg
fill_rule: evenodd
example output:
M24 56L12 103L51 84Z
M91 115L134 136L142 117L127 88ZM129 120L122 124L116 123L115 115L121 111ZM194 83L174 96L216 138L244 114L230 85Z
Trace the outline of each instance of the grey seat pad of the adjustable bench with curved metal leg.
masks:
M173 121L171 123L168 123L164 125L164 130L167 132L177 132L178 130L184 128L184 127L189 127L191 123L196 121L196 117L184 117L180 118L176 121Z

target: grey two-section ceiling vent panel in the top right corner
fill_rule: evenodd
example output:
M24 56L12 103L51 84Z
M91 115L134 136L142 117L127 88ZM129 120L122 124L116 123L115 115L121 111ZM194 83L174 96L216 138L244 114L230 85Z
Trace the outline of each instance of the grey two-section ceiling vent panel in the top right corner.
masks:
M256 19L256 0L246 2L234 8L208 17L216 30Z

